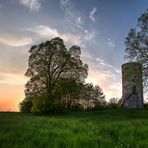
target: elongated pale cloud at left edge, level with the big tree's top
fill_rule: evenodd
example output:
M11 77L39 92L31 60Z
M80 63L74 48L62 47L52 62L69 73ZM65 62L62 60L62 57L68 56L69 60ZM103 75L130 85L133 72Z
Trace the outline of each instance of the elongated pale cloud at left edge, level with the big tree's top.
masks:
M33 43L33 39L30 37L16 37L12 35L0 36L0 43L7 46L20 47L26 46Z

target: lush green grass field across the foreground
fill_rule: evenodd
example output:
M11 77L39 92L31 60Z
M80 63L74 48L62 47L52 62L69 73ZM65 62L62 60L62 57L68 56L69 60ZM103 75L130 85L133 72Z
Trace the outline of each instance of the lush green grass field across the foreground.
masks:
M0 148L148 148L147 110L0 113Z

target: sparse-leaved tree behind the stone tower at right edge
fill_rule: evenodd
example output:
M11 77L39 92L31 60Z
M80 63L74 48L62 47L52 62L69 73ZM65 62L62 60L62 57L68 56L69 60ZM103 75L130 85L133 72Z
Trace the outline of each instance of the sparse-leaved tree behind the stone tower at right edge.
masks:
M125 45L125 58L142 63L144 85L148 88L148 9L139 17L137 29L129 31Z

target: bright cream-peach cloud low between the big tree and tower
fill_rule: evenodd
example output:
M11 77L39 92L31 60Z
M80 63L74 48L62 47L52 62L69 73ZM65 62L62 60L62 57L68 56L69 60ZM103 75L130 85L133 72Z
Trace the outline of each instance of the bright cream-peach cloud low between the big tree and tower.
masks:
M112 97L121 97L121 80L109 69L101 70L89 66L86 82L99 85L106 95L107 101Z

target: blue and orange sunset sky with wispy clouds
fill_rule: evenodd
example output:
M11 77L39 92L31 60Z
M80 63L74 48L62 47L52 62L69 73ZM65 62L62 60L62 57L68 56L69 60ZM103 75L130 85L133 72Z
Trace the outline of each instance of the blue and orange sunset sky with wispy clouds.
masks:
M107 100L121 97L125 37L147 8L148 0L0 0L0 110L18 111L30 47L57 36L81 47L86 82Z

